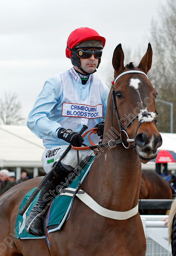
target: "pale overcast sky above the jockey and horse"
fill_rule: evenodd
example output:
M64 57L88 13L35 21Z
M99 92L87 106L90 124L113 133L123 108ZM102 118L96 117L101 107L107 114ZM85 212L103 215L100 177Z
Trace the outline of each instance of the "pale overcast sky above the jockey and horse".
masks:
M78 27L93 28L106 38L97 70L105 80L105 67L119 43L133 52L144 48L145 54L152 18L158 19L158 8L165 3L166 0L1 0L0 98L5 91L18 94L22 115L27 119L45 80L70 69L66 41Z

